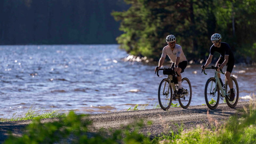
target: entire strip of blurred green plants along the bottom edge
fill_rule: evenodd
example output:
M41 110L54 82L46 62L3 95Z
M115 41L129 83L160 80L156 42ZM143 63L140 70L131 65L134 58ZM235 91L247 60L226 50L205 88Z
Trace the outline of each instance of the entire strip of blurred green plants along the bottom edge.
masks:
M212 129L198 125L195 128L181 130L178 133L171 129L168 134L149 138L141 133L139 129L144 126L143 120L123 127L119 130L108 132L101 130L99 133L89 133L91 121L86 115L76 115L70 112L66 117L52 123L40 123L39 119L27 126L22 137L10 136L5 144L13 143L87 143L87 144L238 144L256 142L256 110L250 105L245 109L243 116L232 116L226 124L219 126L214 118L209 121L215 123ZM152 122L148 122L152 124ZM214 125L214 124L213 124Z

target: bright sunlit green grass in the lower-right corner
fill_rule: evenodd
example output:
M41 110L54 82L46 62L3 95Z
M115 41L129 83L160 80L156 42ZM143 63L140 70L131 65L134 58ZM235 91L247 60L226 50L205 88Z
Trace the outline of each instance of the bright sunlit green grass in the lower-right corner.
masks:
M232 116L221 126L216 125L212 129L204 126L180 131L177 134L170 133L156 138L158 141L171 144L195 143L195 144L244 144L256 143L256 110L250 103L249 110L245 109L244 115Z

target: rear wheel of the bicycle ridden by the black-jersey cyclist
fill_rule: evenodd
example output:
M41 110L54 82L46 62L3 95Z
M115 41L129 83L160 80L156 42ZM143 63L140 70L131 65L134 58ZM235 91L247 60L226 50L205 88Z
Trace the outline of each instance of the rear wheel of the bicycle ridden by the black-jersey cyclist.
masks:
M238 88L238 83L237 83L236 79L233 76L231 76L231 79L233 81L233 88L234 88L234 93L235 93L235 99L234 99L234 101L230 102L229 98L226 96L225 100L226 100L226 103L228 104L228 106L233 108L238 103L239 88ZM230 88L228 87L228 81L226 81L226 85L225 86L226 86L226 90L225 90L226 94L229 94L230 93Z

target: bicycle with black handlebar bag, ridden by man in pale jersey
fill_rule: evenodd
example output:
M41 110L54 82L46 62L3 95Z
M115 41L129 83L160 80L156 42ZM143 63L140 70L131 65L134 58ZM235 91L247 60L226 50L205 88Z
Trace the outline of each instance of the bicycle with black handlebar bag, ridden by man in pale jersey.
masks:
M192 98L192 88L188 78L182 78L183 94L177 95L178 81L174 70L171 68L159 69L163 70L164 75L168 75L167 78L162 79L158 88L158 102L163 110L168 110L171 106L172 100L178 100L182 108L187 108ZM158 71L157 70L157 76ZM177 74L178 75L178 74ZM178 75L179 76L179 75Z

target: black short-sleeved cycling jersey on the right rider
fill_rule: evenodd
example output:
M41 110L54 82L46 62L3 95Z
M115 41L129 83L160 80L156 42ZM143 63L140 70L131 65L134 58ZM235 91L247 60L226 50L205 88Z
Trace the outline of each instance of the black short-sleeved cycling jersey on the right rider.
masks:
M218 52L220 57L225 58L225 55L229 56L228 63L235 60L231 47L226 42L220 42L220 47L215 47L214 44L211 46L210 55L213 55L214 52Z

